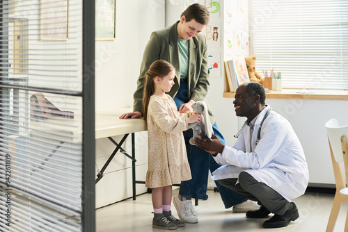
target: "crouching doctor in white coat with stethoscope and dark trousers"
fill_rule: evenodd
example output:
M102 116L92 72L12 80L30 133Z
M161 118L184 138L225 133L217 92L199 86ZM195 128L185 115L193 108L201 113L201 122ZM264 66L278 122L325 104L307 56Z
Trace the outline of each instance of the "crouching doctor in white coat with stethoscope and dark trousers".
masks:
M263 218L265 228L287 226L299 217L292 199L301 196L308 185L308 167L301 143L290 122L265 105L266 94L259 83L240 85L236 90L236 115L246 117L233 147L223 145L212 135L195 138L198 147L213 154L223 165L213 172L218 180L246 199L258 201L260 209L246 217Z

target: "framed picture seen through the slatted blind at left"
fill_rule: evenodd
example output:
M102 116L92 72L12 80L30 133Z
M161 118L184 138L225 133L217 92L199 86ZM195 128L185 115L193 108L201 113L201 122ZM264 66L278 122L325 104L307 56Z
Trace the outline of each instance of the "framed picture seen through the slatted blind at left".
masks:
M68 0L40 0L40 40L68 40Z

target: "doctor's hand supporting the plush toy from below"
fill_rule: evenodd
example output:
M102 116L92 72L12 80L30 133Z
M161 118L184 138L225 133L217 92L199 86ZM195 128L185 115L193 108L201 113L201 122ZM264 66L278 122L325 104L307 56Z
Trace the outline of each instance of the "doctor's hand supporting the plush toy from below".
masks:
M212 134L212 138L207 138L207 136L203 135L203 133L198 133L198 135L202 136L202 139L194 138L194 143L197 147L201 149L205 149L205 151L209 152L213 156L216 156L218 153L222 153L225 145L216 137L216 135Z

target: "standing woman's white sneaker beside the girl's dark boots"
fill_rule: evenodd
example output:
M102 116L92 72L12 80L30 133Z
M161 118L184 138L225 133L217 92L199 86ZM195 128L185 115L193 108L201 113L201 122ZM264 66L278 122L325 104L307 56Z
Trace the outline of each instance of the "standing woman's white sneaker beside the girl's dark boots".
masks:
M179 218L186 223L197 223L198 218L195 215L196 210L192 206L191 200L180 201L179 194L173 197L173 203Z

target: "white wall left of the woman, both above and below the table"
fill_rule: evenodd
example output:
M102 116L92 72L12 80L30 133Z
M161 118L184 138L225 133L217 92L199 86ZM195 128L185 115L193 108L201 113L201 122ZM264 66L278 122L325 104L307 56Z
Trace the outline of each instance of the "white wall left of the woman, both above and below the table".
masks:
M95 42L96 111L133 106L143 50L152 31L164 28L164 1L117 0L116 40ZM130 135L125 150L131 155ZM116 142L122 136L113 138ZM96 141L96 169L102 169L115 146L108 139ZM147 133L136 133L136 179L145 181L148 168ZM96 206L132 197L132 162L116 154L105 176L95 185ZM137 194L146 191L137 184Z

